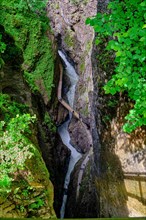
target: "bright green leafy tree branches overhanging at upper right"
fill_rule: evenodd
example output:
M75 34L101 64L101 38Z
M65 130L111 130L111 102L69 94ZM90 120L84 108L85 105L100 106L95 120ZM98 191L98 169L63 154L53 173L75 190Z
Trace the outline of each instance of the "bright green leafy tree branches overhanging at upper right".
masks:
M108 13L98 13L86 23L98 33L96 44L108 38L106 49L115 53L116 69L104 86L105 93L127 92L134 108L123 129L132 132L146 125L146 2L113 0Z

